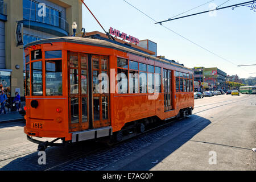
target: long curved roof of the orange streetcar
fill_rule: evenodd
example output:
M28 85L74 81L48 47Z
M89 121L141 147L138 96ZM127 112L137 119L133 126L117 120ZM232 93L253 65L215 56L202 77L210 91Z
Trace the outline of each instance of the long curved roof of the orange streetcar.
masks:
M162 63L171 64L175 67L180 67L184 69L188 69L189 71L192 71L191 68L184 67L181 64L178 63L171 63L170 61L160 59L158 57L154 57L151 55L147 55L146 53L136 51L131 48L123 47L118 44L114 44L112 42L108 42L106 40L100 40L100 39L91 39L91 38L80 38L77 36L65 36L65 37L59 37L59 38L49 38L49 39L41 39L36 40L35 42L28 43L24 48L36 45L36 44L45 44L45 43L52 43L52 42L70 42L70 43L79 43L79 44L86 44L90 46L100 46L100 47L106 47L106 48L114 48L125 52L134 53L135 55L140 55L144 57L148 57L148 59L153 59L156 61L160 61Z

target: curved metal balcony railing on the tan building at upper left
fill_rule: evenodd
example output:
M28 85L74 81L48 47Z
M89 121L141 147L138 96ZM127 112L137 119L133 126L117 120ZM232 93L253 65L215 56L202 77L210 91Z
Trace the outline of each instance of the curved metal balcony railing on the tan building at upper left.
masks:
M45 16L41 16L39 15L38 10L23 8L23 19L51 24L52 26L59 27L66 32L69 32L69 24L67 20L51 13L46 13Z

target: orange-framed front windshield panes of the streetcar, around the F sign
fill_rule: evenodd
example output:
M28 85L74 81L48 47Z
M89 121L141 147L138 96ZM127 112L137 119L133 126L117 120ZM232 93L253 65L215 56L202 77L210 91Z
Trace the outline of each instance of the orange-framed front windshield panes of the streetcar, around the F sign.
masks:
M41 49L36 50L41 52ZM26 56L26 95L27 96L62 96L63 68L62 51L45 51L33 58ZM36 55L36 54L35 54ZM31 76L30 76L31 72ZM31 92L31 94L30 94Z

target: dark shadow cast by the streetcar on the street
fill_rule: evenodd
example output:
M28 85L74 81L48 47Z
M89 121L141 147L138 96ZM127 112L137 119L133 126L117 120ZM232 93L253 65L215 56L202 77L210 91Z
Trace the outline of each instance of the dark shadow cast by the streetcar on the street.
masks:
M72 147L50 147L46 150L46 165L39 165L38 152L26 156L6 160L3 171L37 171L67 162L55 170L149 170L156 164L172 154L177 148L203 130L210 121L197 115L181 119L129 139L113 147L102 147L102 143L81 142ZM102 148L100 151L85 155L87 152ZM81 156L82 155L82 156ZM141 155L141 156L139 156ZM77 158L79 157L79 158ZM77 159L74 159L77 158ZM129 160L129 158L133 158ZM129 161L133 161L129 163ZM118 163L121 162L122 165ZM123 165L123 162L127 163ZM0 159L0 164L1 164ZM70 167L72 166L72 168ZM115 168L111 168L115 166Z

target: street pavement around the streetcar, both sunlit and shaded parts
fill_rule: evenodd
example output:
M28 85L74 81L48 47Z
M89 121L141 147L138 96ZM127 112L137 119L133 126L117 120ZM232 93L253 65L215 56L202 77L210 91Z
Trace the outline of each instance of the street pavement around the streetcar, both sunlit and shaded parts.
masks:
M256 95L195 100L193 115L88 155L88 146L50 147L47 167L24 122L0 124L0 170L256 170ZM88 143L86 144L88 145ZM92 147L92 150L95 148ZM61 154L61 155L60 155Z

